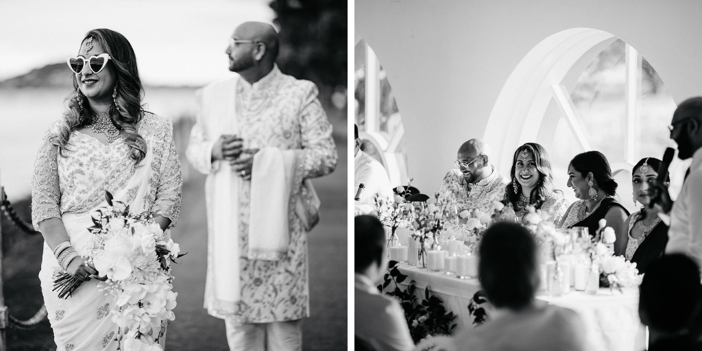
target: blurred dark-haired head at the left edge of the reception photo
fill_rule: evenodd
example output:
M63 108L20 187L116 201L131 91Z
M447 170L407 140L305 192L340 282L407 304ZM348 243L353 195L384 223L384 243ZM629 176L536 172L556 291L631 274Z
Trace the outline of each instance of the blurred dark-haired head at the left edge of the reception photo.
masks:
M355 272L366 273L369 267L384 270L385 230L383 230L383 223L380 223L380 220L375 216L364 215L354 218L354 226Z

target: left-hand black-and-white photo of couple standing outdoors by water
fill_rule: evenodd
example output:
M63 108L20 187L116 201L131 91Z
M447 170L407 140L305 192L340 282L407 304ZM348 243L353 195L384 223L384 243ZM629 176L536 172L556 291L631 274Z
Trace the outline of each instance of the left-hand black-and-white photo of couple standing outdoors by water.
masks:
M0 350L347 350L347 21L3 1Z

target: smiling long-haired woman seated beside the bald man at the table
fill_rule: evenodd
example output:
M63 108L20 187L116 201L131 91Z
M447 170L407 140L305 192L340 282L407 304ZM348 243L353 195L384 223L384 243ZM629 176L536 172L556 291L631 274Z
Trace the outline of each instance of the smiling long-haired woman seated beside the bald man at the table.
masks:
M524 222L527 206L551 213L549 220L558 223L568 209L563 192L553 189L548 152L537 143L517 147L510 170L512 182L505 188L505 204L511 203L515 215Z

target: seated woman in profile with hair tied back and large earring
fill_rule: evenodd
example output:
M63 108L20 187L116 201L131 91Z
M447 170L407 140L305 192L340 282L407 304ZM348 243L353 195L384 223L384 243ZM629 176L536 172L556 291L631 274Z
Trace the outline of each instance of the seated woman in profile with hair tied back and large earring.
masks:
M599 151L577 154L568 165L567 185L580 201L571 204L559 227L588 227L590 236L595 237L598 223L604 218L616 234L614 253L623 255L626 251L623 225L629 212L614 198L618 184L612 178L607 157Z

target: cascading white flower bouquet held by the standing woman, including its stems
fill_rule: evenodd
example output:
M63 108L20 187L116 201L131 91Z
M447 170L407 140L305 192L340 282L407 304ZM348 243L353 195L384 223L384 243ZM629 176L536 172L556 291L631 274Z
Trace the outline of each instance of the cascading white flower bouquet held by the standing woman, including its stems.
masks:
M161 350L158 341L166 321L176 319L178 293L171 285L171 262L185 254L166 237L152 213L130 213L129 206L112 201L110 192L105 197L108 206L93 214L95 225L88 228L88 260L107 277L98 286L115 302L110 313L119 326L117 339L124 335L122 350ZM55 285L62 284L62 291L70 294L82 281L65 276Z

